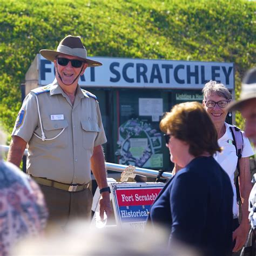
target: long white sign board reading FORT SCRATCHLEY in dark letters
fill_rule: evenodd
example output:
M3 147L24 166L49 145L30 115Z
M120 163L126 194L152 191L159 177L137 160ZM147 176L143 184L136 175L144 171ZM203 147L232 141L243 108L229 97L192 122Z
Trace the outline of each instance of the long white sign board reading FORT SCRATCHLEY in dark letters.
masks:
M53 63L41 55L37 58L39 85L52 83L55 78ZM102 62L103 66L85 70L79 79L81 86L201 89L212 79L234 89L233 63L110 57L91 59Z

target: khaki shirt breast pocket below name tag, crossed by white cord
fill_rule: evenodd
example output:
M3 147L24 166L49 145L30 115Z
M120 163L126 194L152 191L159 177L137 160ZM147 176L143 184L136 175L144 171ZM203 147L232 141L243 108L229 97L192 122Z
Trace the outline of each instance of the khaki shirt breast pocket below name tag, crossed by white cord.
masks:
M37 142L49 147L49 148L57 148L64 149L68 146L68 132L66 131L68 128L68 122L66 120L42 120L43 123L43 131L45 135L45 140L42 138L41 126L35 131L37 135ZM38 141L39 140L39 141Z

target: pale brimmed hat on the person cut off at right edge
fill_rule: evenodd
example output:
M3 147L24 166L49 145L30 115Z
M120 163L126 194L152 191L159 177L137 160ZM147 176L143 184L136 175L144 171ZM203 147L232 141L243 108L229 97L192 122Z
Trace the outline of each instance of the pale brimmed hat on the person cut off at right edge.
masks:
M256 99L256 68L248 70L242 79L240 99L228 105L229 110L240 110L247 100Z

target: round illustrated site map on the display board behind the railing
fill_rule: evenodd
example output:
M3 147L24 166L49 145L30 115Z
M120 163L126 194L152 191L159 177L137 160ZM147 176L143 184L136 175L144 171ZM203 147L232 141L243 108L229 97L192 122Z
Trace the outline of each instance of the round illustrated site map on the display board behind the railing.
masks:
M163 166L161 152L161 133L151 123L129 119L119 127L118 150L119 164L138 167Z

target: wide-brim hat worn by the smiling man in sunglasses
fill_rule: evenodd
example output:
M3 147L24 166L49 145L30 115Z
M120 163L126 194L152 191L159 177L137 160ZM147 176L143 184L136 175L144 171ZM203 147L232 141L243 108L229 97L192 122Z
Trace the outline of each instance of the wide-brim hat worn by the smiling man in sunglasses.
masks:
M87 59L87 51L79 36L66 36L62 41L60 41L56 51L43 49L40 53L44 58L51 62L53 62L60 53L63 53L84 59L88 66L102 65L102 63L97 62L96 60Z

